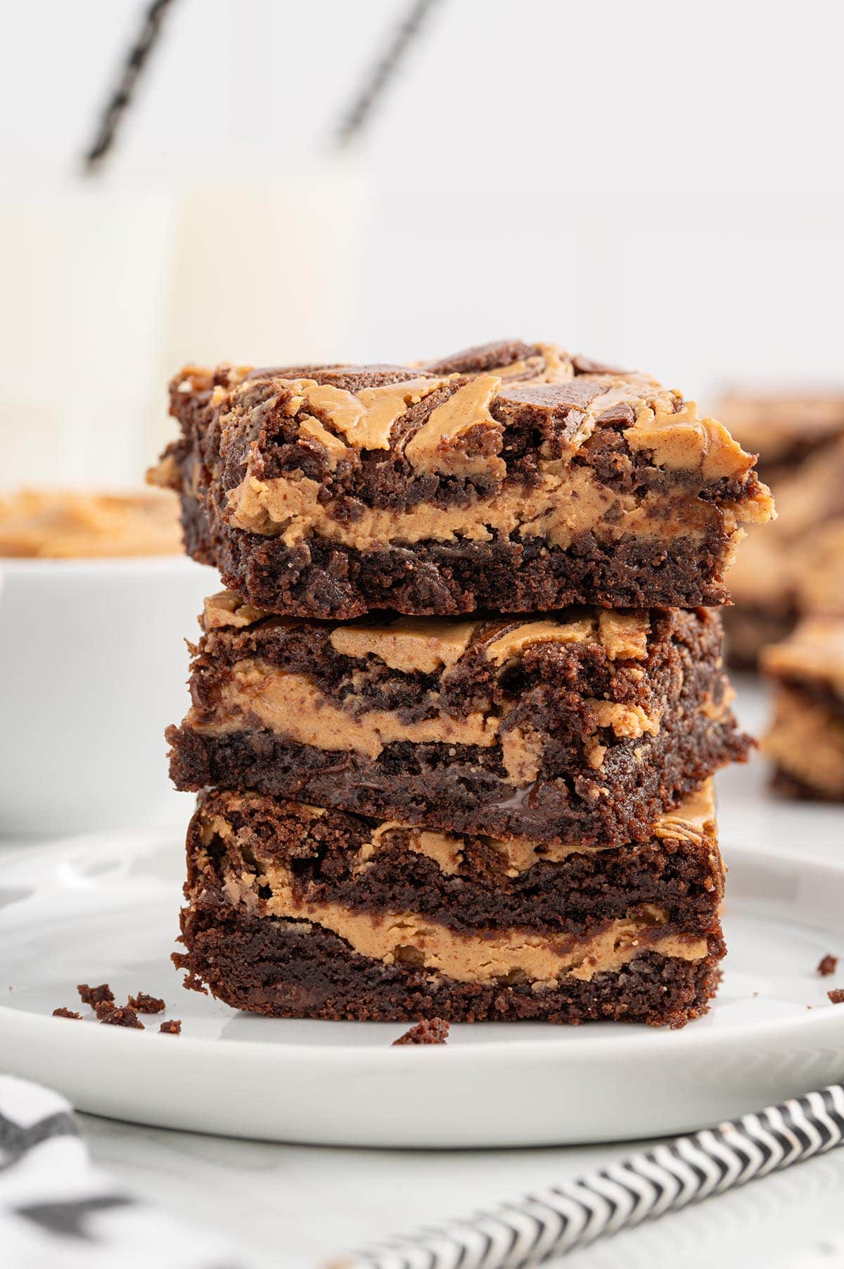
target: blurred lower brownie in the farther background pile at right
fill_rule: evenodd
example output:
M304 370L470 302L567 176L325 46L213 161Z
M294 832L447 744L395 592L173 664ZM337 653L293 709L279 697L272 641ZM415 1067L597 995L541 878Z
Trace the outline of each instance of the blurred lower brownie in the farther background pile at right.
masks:
M786 638L801 615L844 617L844 437L783 475L777 522L751 525L727 582L723 612L730 664L755 669L767 643Z

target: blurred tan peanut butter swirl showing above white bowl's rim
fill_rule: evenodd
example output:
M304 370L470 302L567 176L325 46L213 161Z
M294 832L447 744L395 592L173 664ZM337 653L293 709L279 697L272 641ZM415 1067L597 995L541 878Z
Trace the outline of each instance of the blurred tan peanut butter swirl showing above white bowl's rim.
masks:
M0 556L84 560L176 555L180 548L171 492L23 490L0 496Z

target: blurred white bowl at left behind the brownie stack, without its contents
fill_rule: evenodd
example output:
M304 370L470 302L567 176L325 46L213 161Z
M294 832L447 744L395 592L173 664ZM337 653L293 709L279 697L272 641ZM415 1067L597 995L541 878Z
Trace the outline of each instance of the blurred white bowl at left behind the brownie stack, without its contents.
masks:
M180 556L0 560L0 835L188 815L164 728L187 708L211 569Z

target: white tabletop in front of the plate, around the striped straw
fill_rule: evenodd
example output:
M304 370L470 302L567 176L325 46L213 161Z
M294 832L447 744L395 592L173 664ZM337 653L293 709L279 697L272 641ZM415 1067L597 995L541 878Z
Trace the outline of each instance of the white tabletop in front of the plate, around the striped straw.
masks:
M742 721L756 730L764 703L740 690ZM764 778L762 761L723 773L721 786ZM735 797L725 802L736 803ZM844 812L841 812L844 816ZM740 834L740 815L721 822ZM725 832L726 830L726 832ZM820 855L844 849L844 832L806 843ZM844 914L843 914L844 926ZM843 929L844 944L844 929ZM844 945L841 947L844 952ZM232 1090L236 1094L236 1090ZM278 1096L296 1096L278 1089ZM748 1109L758 1109L748 1107ZM495 1108L490 1108L495 1113ZM637 1143L536 1150L378 1151L268 1145L145 1128L81 1115L91 1154L122 1185L185 1221L218 1231L245 1266L319 1269L341 1253L419 1225L471 1214L599 1167ZM641 1145L641 1143L638 1143ZM844 1264L844 1151L801 1164L701 1207L664 1217L569 1259L583 1269L767 1269ZM841 1254L844 1256L844 1253Z

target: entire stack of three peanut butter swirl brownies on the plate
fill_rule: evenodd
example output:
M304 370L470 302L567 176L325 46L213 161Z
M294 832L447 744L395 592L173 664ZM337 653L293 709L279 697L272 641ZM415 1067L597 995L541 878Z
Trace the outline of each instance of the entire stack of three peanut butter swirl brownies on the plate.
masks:
M544 344L189 367L155 480L216 565L171 773L189 986L277 1016L682 1025L744 758L721 424Z

